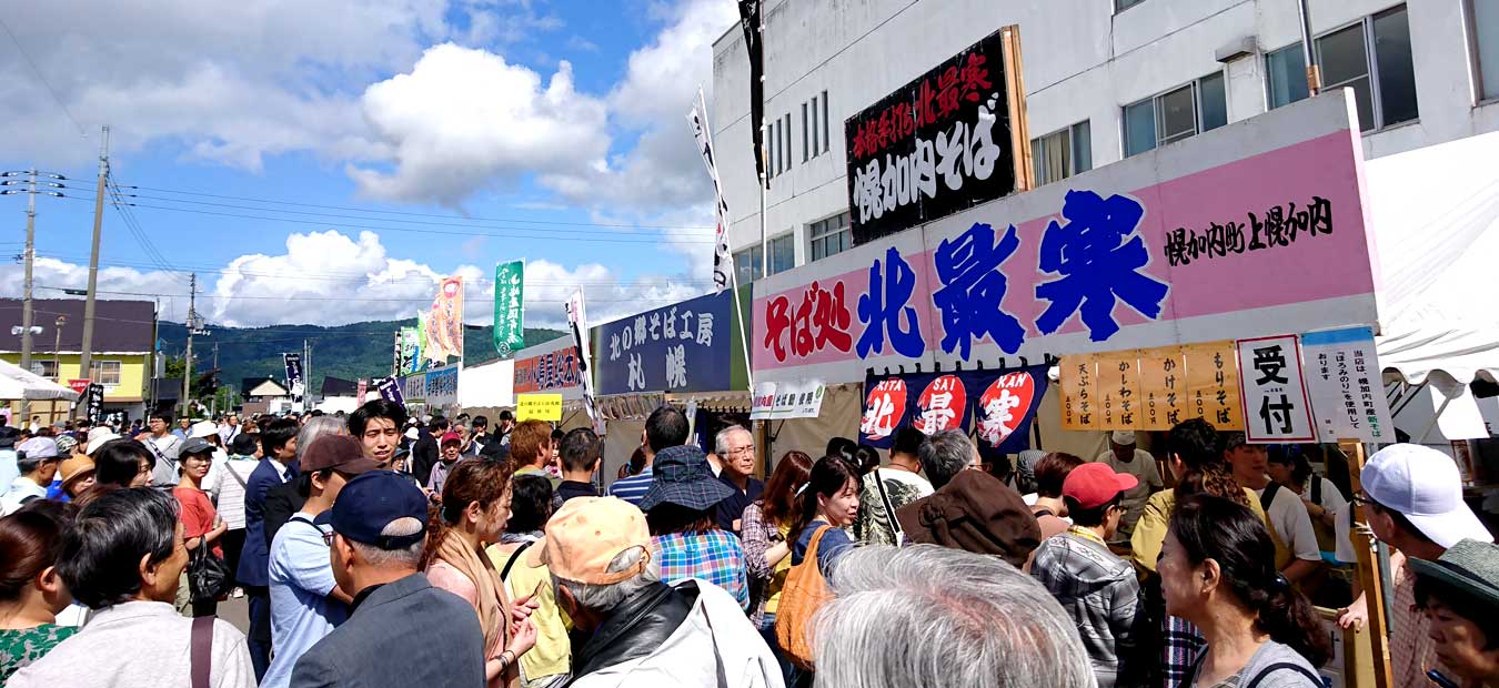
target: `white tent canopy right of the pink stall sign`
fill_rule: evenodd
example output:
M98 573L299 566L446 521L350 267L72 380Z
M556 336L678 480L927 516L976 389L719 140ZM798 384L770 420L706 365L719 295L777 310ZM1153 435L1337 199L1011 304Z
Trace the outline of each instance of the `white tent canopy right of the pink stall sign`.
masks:
M1409 384L1499 382L1499 132L1366 163L1379 361Z

